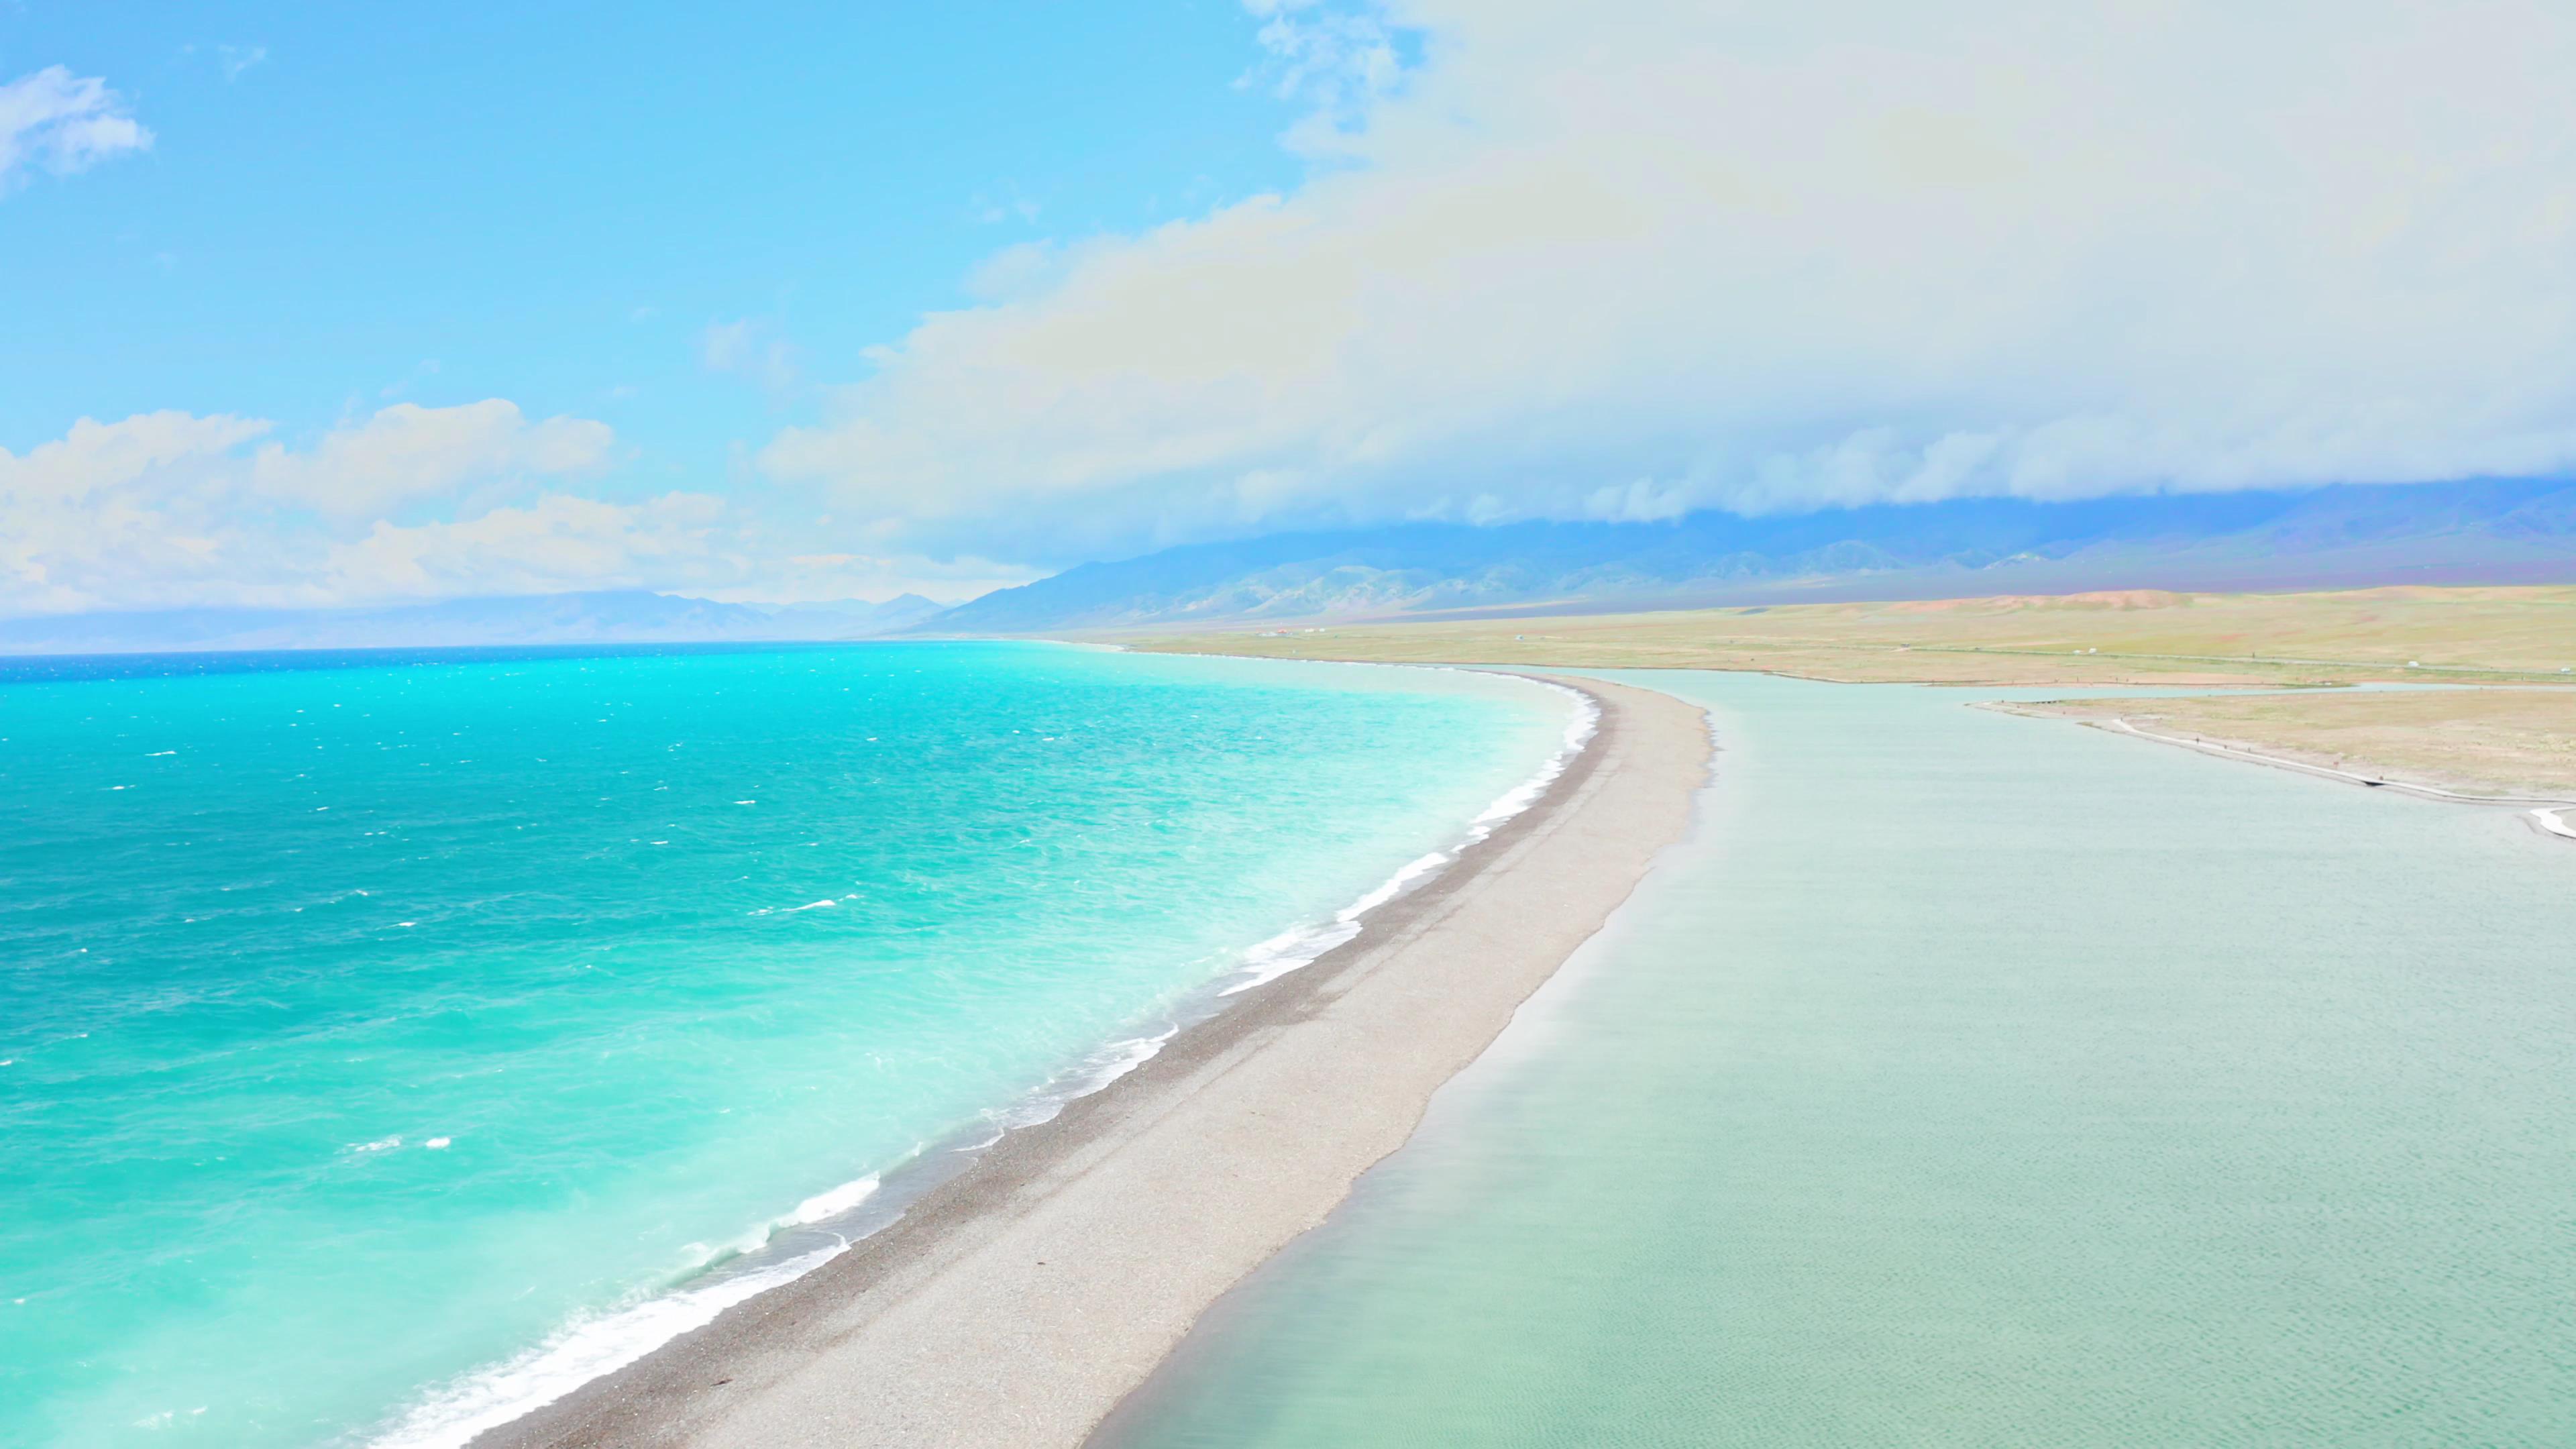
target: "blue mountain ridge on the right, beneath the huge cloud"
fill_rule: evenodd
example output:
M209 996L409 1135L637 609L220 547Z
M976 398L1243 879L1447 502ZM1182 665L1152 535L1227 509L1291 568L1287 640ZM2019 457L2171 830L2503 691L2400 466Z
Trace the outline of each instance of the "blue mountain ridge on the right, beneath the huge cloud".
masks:
M1097 562L961 603L938 634L1437 611L1682 608L2094 588L2576 583L2576 485L2339 485L2081 503L1963 498L1672 523L1399 523Z

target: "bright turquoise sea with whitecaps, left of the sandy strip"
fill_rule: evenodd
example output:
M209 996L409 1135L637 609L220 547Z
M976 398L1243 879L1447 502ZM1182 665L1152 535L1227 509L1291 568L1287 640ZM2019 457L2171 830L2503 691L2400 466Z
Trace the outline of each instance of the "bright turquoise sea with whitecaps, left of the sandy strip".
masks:
M5 668L0 1441L77 1446L438 1444L613 1364L1569 714L1041 645Z

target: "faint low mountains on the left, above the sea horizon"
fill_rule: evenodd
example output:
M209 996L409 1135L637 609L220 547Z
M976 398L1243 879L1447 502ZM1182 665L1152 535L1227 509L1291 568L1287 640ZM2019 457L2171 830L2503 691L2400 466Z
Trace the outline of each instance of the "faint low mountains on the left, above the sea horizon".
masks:
M886 603L778 606L649 590L448 598L384 608L157 608L0 619L0 655L873 639L938 611L938 603L917 593Z

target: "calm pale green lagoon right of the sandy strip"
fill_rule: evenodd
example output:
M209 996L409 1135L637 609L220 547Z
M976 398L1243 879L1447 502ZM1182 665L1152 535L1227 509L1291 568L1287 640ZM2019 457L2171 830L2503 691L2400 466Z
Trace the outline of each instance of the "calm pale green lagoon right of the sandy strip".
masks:
M2576 1444L2576 848L1625 678L1692 843L1108 1444Z

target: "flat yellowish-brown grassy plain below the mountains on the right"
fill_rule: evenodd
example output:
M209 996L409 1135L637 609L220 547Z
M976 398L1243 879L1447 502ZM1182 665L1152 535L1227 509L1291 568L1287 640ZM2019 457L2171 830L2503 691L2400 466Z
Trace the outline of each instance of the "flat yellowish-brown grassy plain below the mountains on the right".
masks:
M1762 670L1842 683L2298 688L2066 704L2141 727L2470 792L2576 792L2576 588L2362 588L1793 603L1110 634L1136 650L1309 660Z

